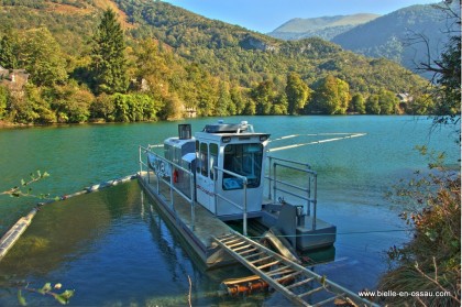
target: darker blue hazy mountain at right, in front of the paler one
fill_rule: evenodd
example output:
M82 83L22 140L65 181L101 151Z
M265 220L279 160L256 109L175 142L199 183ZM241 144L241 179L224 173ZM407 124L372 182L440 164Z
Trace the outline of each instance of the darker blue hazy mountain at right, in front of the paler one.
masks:
M448 24L446 13L435 6L411 6L358 25L331 41L345 50L393 59L415 70L429 56L438 58L448 43L448 31L458 29L457 24Z

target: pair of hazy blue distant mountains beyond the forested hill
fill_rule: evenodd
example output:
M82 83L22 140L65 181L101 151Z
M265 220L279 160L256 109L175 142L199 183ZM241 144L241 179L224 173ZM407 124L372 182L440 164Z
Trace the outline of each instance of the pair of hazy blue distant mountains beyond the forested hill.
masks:
M460 8L454 8L454 12L459 11ZM364 18L361 19L361 15ZM370 20L367 15L371 15ZM444 12L436 8L436 4L416 4L386 15L372 17L355 14L343 19L293 19L268 35L282 40L318 36L354 53L385 57L416 72L420 63L438 58L448 43L448 35L444 33L455 31L458 26L448 24ZM358 22L353 24L349 20ZM428 45L422 41L424 37Z

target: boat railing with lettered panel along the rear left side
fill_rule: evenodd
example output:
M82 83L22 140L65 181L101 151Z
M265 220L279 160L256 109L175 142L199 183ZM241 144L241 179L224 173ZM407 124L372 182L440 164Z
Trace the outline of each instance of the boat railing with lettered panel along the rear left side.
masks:
M184 198L187 202L190 204L190 216L191 216L191 223L190 227L194 230L195 229L195 220L196 220L196 209L195 209L195 186L194 186L194 174L189 169L183 167L182 165L178 165L169 160L166 160L165 157L161 156L160 154L151 151L151 146L143 147L140 146L140 177L142 177L142 174L146 172L147 176L145 180L147 183L151 183L151 175L150 172L152 171L154 175L156 176L156 193L157 195L161 195L161 183L164 183L168 189L169 189L169 205L170 209L175 212L175 197L174 193L179 195L182 198ZM146 163L143 161L143 154L146 155ZM151 160L151 161L150 161ZM146 171L144 171L146 168ZM180 171L182 174L185 176L188 176L189 178L189 196L185 194L184 190L180 190L177 186L175 186L175 172Z

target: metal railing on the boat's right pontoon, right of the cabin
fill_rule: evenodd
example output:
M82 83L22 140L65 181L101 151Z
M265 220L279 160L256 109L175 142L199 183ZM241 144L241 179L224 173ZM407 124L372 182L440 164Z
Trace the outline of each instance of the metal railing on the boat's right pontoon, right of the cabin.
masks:
M290 172L293 180L284 178L284 174ZM311 228L316 229L318 174L307 163L300 163L287 158L268 156L268 198L278 201L280 197L289 195L302 201L302 215L312 216ZM306 179L302 179L306 178ZM311 209L312 207L312 209Z

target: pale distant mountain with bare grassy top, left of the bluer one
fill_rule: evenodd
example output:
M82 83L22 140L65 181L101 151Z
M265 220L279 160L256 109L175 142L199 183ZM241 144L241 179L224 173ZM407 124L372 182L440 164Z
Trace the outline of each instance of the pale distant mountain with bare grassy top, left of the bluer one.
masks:
M360 13L309 19L296 18L267 33L267 35L282 40L300 40L316 36L330 41L334 36L378 17L377 14Z

